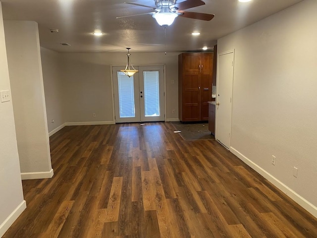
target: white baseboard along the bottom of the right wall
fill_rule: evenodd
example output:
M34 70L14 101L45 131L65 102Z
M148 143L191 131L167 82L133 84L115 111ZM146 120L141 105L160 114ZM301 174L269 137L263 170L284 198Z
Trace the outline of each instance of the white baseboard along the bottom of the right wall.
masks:
M245 157L243 154L241 154L239 151L234 149L233 147L230 147L230 151L236 155L240 160L242 160L244 163L246 163L248 166L250 166L252 169L254 169L256 172L258 172L260 175L262 175L265 179L267 179L269 182L274 184L278 189L280 189L282 192L284 192L287 196L289 196L291 199L293 199L295 202L297 202L300 206L302 206L304 209L306 209L309 213L311 213L313 216L317 218L317 207L307 201L304 197L296 193L294 190L292 190L290 187L286 186L283 182L276 179L274 176L269 174L267 171L265 171L263 168L255 164L253 161Z

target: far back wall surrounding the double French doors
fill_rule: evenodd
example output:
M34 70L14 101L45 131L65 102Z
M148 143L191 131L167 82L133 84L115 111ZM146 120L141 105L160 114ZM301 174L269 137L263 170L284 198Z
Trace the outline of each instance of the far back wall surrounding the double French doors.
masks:
M175 120L178 120L178 54L131 51L133 65L166 64L166 115L167 119ZM110 65L124 68L126 54L61 54L61 59L66 121L114 123ZM175 83L171 84L171 80Z

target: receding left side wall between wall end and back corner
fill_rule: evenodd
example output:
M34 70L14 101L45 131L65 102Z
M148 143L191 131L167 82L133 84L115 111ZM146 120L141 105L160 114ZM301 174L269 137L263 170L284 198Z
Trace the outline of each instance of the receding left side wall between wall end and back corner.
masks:
M41 60L45 91L45 104L49 132L64 126L63 81L60 70L60 54L41 47ZM52 122L54 120L54 122Z

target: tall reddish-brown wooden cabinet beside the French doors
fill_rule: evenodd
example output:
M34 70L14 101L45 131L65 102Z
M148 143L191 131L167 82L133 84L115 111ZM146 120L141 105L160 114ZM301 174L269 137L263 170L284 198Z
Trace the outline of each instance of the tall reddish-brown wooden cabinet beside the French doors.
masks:
M178 56L178 110L180 121L208 120L213 53Z

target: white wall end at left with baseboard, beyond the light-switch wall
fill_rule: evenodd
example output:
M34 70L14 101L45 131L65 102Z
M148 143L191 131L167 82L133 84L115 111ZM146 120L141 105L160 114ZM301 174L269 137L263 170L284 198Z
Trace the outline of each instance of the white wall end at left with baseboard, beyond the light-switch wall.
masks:
M21 176L51 178L38 25L4 21L4 32Z

